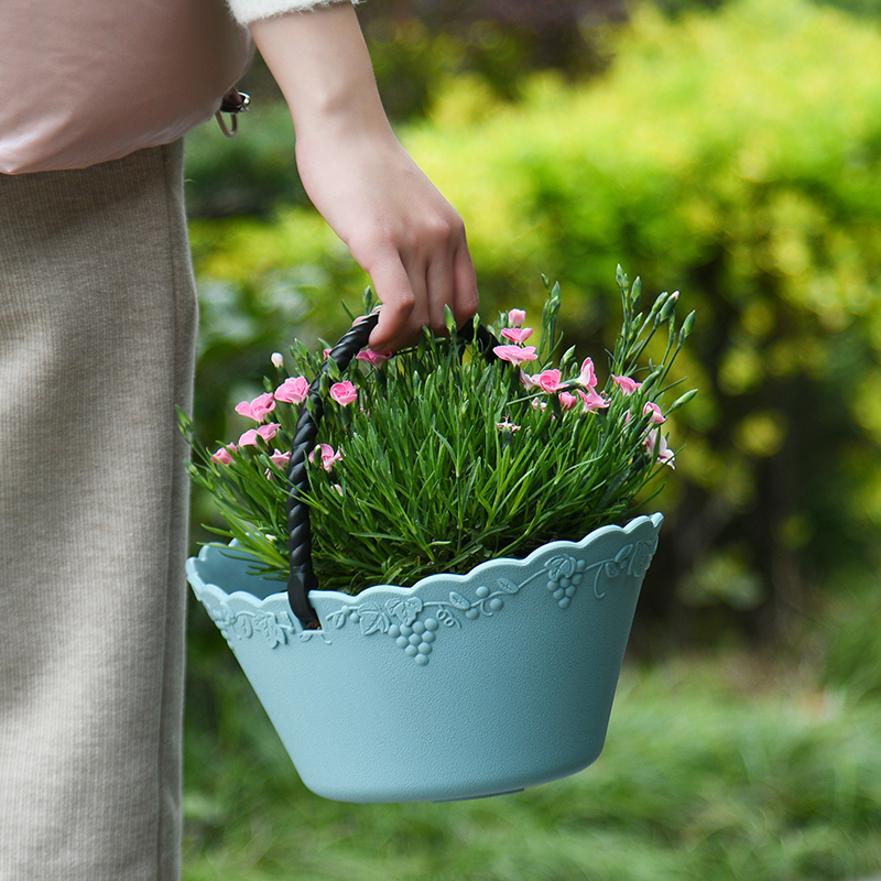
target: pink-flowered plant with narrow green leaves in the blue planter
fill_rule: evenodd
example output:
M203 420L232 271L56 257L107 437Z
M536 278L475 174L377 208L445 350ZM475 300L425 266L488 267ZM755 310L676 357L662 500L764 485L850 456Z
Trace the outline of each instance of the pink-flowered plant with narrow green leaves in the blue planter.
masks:
M257 423L237 444L211 454L182 415L196 453L191 475L226 519L221 534L253 554L258 570L286 579L286 465L316 378L324 417L304 498L325 589L410 586L623 522L673 466L662 426L694 392L664 401L694 313L677 326L675 293L644 313L639 279L631 285L619 268L617 281L623 322L602 384L592 359L561 355L561 291L546 280L536 346L525 314L512 309L490 328L499 345L488 354L456 334L452 315L449 338L425 331L391 358L362 352L345 372L300 344L290 372L275 354L265 393L237 407ZM657 331L663 356L643 362Z

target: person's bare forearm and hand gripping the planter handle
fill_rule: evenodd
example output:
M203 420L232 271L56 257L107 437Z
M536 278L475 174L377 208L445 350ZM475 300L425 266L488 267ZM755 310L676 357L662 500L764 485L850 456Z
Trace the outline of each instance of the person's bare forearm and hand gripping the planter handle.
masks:
M444 329L477 311L477 282L458 214L394 137L349 3L252 22L284 94L296 160L315 207L370 274L383 304L373 349L400 348L423 325Z

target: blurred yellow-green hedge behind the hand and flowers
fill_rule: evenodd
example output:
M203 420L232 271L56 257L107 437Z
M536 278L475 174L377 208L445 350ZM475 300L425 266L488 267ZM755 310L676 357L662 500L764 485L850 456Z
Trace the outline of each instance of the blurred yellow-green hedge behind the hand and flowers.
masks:
M671 638L795 637L812 585L870 566L881 523L881 33L737 0L642 7L616 39L602 76L532 75L514 102L448 79L400 133L465 217L485 309L534 308L539 274L558 278L566 336L601 363L617 262L682 289L701 392L672 427L686 449L642 614ZM258 166L261 137L240 135ZM214 439L269 352L341 330L366 278L304 206L192 230Z

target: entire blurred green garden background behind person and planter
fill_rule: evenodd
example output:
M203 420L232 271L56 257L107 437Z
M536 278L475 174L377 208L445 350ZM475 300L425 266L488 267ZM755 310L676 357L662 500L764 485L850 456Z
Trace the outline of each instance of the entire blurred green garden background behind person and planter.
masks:
M599 761L526 793L354 806L298 782L189 620L185 879L881 874L881 8L875 0L370 0L399 137L466 221L481 312L563 285L614 334L616 264L679 290L666 522ZM368 280L311 208L258 62L233 141L189 138L196 422ZM534 314L534 312L533 312ZM193 541L213 514L194 499ZM417 713L414 708L414 713Z

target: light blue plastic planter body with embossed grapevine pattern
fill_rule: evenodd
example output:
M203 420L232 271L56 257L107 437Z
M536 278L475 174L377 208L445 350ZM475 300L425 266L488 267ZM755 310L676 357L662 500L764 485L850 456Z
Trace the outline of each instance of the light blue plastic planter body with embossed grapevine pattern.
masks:
M663 518L526 559L358 596L314 590L305 630L279 581L204 547L187 577L303 782L348 802L497 795L600 753Z

